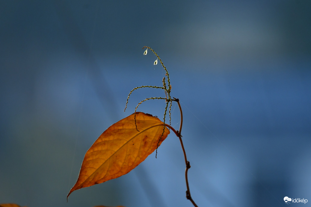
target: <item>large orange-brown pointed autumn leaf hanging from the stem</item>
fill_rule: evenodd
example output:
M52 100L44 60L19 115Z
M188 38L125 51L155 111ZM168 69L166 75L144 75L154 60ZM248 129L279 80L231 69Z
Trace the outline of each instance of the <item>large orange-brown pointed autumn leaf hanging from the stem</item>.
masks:
M169 134L160 119L142 112L134 114L111 125L86 152L75 190L118 178L146 159L156 150ZM163 135L162 135L163 133ZM162 135L162 137L161 137ZM67 198L68 198L67 196Z

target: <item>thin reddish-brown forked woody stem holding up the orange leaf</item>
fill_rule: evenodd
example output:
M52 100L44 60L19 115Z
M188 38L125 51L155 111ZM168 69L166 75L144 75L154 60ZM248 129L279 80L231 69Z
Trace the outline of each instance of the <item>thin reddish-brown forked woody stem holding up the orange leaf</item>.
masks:
M174 98L173 101L176 101L178 103L179 110L180 110L180 127L179 127L179 131L176 131L173 127L171 127L168 124L165 124L165 126L170 128L176 134L176 136L179 138L179 141L180 141L180 144L181 144L181 148L183 149L183 156L185 157L185 163L186 163L186 170L185 170L185 178L186 178L186 186L187 186L186 198L188 200L190 200L195 207L198 207L197 204L193 201L193 199L191 197L191 194L190 194L190 188L189 188L189 183L188 183L188 169L191 166L190 166L190 162L187 160L186 151L185 151L185 148L183 146L183 140L181 139L182 136L180 134L181 128L183 126L183 111L181 110L179 99L178 98Z

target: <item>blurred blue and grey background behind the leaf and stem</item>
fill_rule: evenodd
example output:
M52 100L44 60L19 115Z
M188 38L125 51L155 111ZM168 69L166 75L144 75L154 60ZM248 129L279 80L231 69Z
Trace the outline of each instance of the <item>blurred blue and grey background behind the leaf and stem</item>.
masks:
M66 196L111 124L169 70L198 206L311 206L311 2L1 1L0 203L192 206L171 133L130 173ZM163 100L143 111L163 118ZM172 106L172 126L179 128Z

